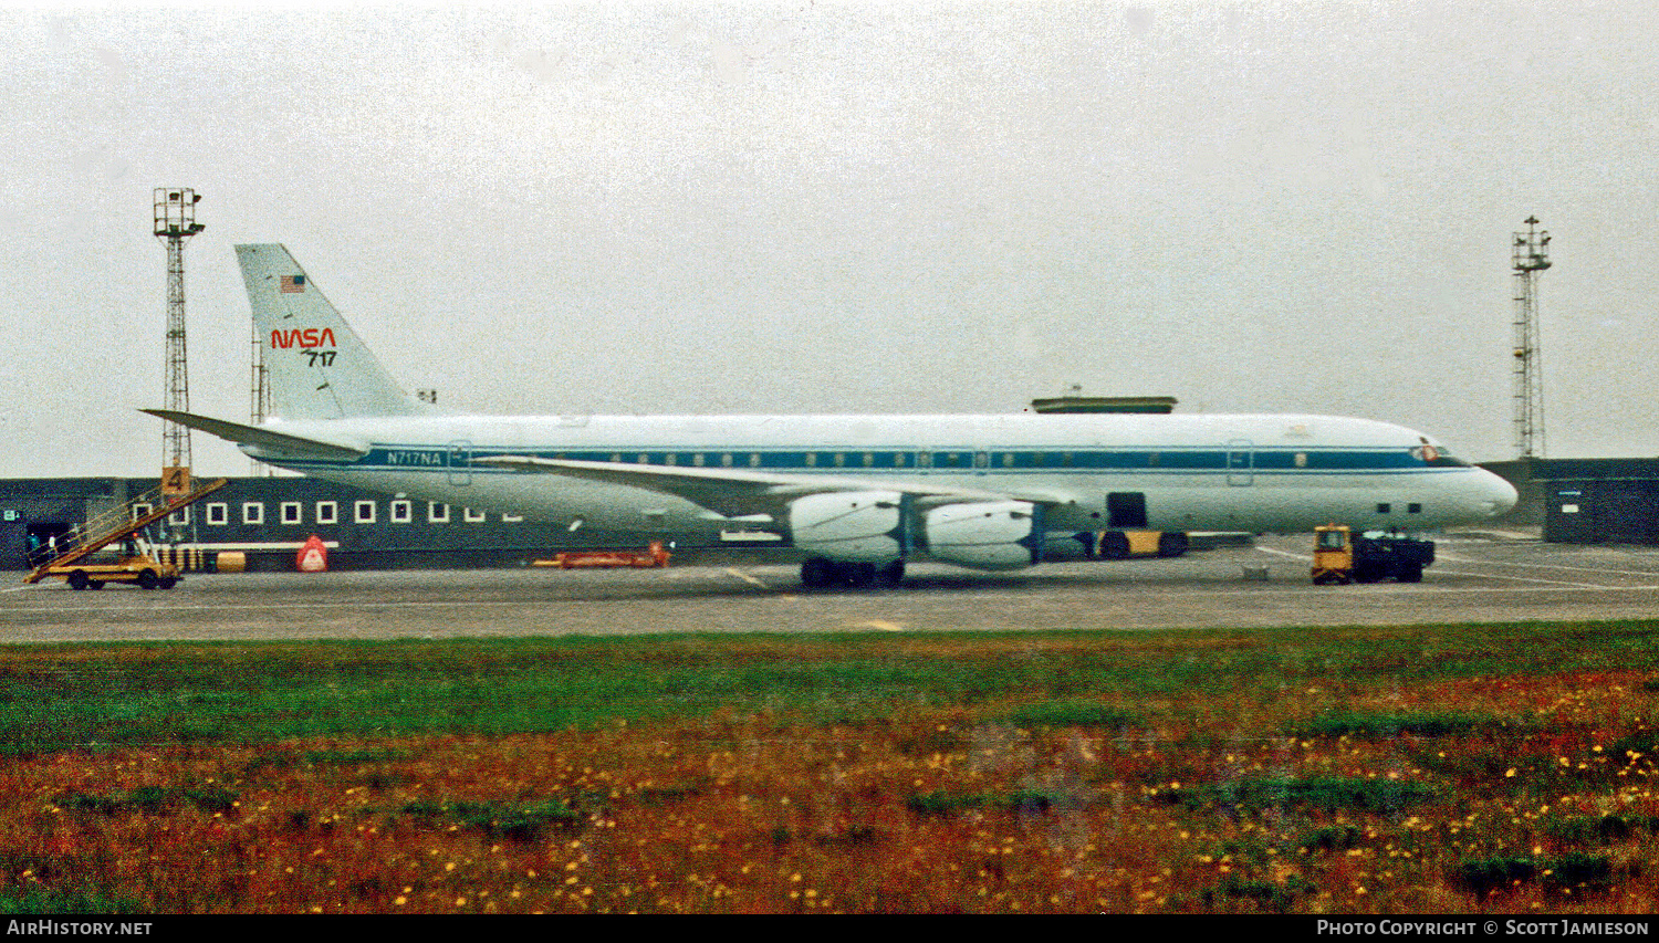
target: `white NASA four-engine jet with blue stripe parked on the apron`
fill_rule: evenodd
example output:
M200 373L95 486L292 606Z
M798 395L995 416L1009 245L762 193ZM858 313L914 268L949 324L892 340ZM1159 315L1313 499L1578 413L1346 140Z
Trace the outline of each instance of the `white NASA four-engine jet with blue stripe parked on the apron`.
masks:
M144 409L370 491L687 544L770 535L810 588L1019 570L1050 534L1437 530L1515 489L1413 429L1301 414L469 416L408 396L279 244L237 245L272 413Z

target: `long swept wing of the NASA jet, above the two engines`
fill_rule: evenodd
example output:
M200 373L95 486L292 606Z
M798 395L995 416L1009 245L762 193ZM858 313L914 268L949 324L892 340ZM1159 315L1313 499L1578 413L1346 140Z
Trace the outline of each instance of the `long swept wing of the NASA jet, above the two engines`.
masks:
M642 466L627 462L584 462L574 459L538 459L529 456L476 457L474 466L504 467L521 472L557 474L581 481L622 484L644 491L672 494L707 507L722 517L770 514L783 519L788 504L808 494L836 491L898 491L912 494L922 507L972 501L1029 501L1032 504L1078 504L1075 494L1062 489L1015 487L982 491L947 487L921 479L891 481L856 476L776 474L752 469L710 469L682 466Z

